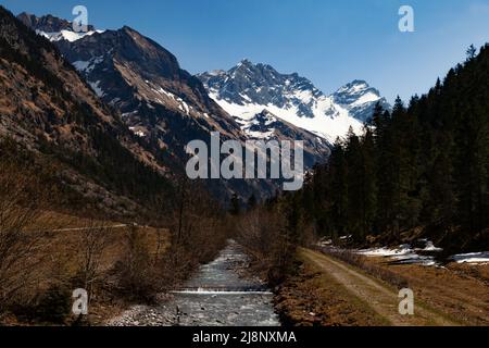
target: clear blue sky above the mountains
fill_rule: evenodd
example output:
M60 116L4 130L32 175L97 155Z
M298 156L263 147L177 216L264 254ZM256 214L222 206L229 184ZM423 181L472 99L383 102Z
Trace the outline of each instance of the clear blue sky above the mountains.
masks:
M389 101L426 92L489 41L489 0L0 0L73 18L84 4L97 28L129 25L172 51L191 73L229 69L243 58L298 72L331 92L365 79ZM413 7L415 33L400 33L398 10Z

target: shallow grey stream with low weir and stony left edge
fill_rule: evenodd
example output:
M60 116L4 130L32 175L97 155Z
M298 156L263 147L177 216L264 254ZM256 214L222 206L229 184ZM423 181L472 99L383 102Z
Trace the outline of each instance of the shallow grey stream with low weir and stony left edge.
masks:
M247 256L234 240L211 263L156 307L135 307L112 325L279 326L273 294L240 276Z

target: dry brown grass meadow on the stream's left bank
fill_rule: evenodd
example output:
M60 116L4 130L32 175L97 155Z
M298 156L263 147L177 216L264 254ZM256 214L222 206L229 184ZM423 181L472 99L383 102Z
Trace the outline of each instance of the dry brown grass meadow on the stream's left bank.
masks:
M121 296L117 284L116 265L127 256L128 229L135 229L142 244L151 265L159 265L170 246L170 232L154 227L112 227L114 223L89 221L75 216L49 213L62 216L59 222L50 221L50 226L63 228L83 228L73 231L30 231L27 235L37 240L37 248L30 249L20 260L32 269L20 273L22 291L11 298L3 314L10 323L36 322L35 307L39 297L52 286L61 286L68 293L82 287L90 296L89 322L97 323L106 315L118 312L129 302ZM42 227L46 228L42 220ZM70 227L64 227L64 226ZM164 270L162 276L164 275ZM151 277L156 284L158 277ZM10 314L9 314L10 313ZM13 315L12 315L13 314ZM72 318L73 319L73 318ZM1 318L0 318L1 322Z

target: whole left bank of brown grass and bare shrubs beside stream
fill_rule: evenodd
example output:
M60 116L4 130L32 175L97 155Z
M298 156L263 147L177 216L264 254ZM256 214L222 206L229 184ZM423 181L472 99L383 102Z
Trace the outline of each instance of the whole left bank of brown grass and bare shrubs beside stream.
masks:
M145 225L87 217L59 210L55 175L32 159L0 153L2 324L101 324L130 303L154 302L225 245L226 213L196 183L183 181L171 204L160 197ZM72 314L77 288L88 293L83 321Z

